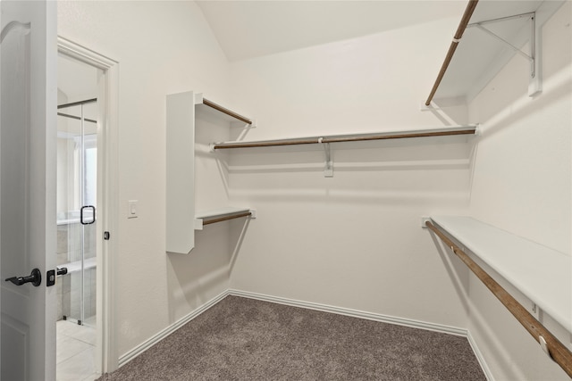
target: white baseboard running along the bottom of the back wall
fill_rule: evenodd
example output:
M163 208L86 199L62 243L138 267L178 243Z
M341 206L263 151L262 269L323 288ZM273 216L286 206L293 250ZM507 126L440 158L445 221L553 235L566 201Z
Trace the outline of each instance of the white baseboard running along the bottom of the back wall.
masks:
M349 317L353 317L353 318L368 319L368 320L379 321L382 323L395 324L397 326L420 328L420 329L425 329L428 331L439 332L442 334L467 337L467 329L466 328L451 327L451 326L445 326L442 324L427 323L425 321L419 321L419 320L414 320L414 319L397 318L397 317L393 317L393 316L389 316L389 315L382 315L379 313L352 310L352 309L347 309L347 308L342 308L342 307L335 307L335 306L331 306L331 305L327 305L327 304L315 303L315 302L303 302L303 301L298 301L298 300L294 300L294 299L287 299L287 298L282 298L282 297L277 297L277 296L250 293L248 291L229 290L229 294L234 295L234 296L242 296L242 297L250 298L250 299L257 299L259 301L264 301L264 302L275 302L275 303L279 303L279 304L290 305L292 307L306 308L308 310L332 312L332 313L337 313L339 315L345 315L345 316L349 316Z

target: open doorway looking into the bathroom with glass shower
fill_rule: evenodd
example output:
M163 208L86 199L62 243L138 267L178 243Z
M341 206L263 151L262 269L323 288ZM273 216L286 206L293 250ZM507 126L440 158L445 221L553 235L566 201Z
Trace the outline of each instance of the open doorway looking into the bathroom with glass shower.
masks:
M58 54L57 378L95 379L97 367L97 140L101 69Z

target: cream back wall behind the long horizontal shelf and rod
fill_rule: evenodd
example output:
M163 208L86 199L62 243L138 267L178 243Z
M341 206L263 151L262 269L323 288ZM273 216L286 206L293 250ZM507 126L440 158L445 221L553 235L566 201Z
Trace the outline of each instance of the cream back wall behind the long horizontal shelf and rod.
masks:
M457 22L233 62L237 102L258 124L246 138L443 127L419 105L448 47L443 36ZM324 178L319 146L231 153L231 201L257 209L232 288L465 327L464 291L455 282L466 269L455 260L456 272L445 266L451 260L421 217L467 212L467 138L331 148L333 178Z

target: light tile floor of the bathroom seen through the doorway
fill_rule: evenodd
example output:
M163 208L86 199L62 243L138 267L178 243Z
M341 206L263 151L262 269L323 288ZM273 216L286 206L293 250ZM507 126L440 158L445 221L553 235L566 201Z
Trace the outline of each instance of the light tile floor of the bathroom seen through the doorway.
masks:
M57 322L56 380L92 381L96 372L96 328L69 320Z

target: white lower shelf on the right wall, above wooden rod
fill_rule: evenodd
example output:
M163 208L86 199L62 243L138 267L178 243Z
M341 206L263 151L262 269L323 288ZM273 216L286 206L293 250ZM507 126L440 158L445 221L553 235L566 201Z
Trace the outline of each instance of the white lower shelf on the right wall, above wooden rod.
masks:
M470 217L431 219L572 333L570 256Z

